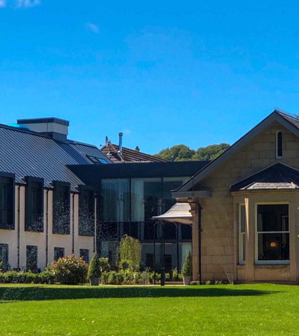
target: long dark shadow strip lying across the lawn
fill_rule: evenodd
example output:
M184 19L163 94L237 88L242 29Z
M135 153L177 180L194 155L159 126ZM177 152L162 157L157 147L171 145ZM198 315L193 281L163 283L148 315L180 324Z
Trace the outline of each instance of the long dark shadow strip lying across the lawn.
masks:
M261 296L272 293L277 292L253 289L192 287L0 287L0 301L43 301L88 298Z

